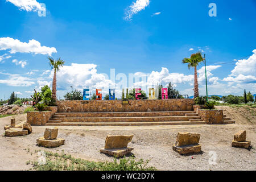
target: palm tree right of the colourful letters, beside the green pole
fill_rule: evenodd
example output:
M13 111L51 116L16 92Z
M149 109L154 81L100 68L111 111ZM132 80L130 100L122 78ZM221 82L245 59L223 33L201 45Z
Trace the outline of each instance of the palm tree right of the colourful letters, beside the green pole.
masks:
M190 58L184 58L182 63L188 63L188 69L195 68L194 73L194 98L199 97L199 89L198 89L198 81L197 81L197 69L196 67L199 65L201 61L204 61L204 58L201 55L201 52L193 53Z

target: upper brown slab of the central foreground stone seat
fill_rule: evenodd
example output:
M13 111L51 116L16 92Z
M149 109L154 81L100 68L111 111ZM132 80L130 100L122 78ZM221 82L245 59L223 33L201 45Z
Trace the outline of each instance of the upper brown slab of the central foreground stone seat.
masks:
M108 135L106 137L105 149L125 148L133 139L133 135Z

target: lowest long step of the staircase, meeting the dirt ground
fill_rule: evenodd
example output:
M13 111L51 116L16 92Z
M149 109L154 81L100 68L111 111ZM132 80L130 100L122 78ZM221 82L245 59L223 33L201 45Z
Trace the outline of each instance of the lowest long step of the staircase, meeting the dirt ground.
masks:
M204 125L205 122L171 121L171 122L65 122L46 123L46 126L151 126L151 125Z

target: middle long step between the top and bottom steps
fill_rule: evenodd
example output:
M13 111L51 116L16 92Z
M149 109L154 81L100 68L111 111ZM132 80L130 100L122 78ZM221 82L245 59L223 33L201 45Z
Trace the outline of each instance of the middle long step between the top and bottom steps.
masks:
M189 121L201 119L200 116L163 116L163 117L113 117L113 118L51 118L50 121L61 122L161 122L161 121Z

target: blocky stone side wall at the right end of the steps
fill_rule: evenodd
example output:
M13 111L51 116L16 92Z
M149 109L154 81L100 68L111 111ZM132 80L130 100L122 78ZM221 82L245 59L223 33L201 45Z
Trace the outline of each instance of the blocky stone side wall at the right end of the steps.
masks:
M224 124L223 110L199 109L198 114L208 124Z

